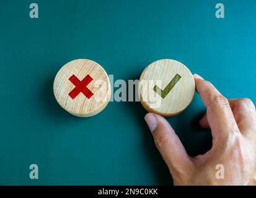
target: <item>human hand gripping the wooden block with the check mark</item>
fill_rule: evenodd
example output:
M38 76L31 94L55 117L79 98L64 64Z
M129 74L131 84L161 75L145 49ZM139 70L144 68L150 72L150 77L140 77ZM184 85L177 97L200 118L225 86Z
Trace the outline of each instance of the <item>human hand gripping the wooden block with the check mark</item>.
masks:
M245 98L227 100L210 82L196 74L194 79L206 106L200 125L211 129L211 150L204 155L188 156L166 119L153 113L145 116L174 185L256 185L254 103ZM216 175L217 167L223 168L223 176Z

